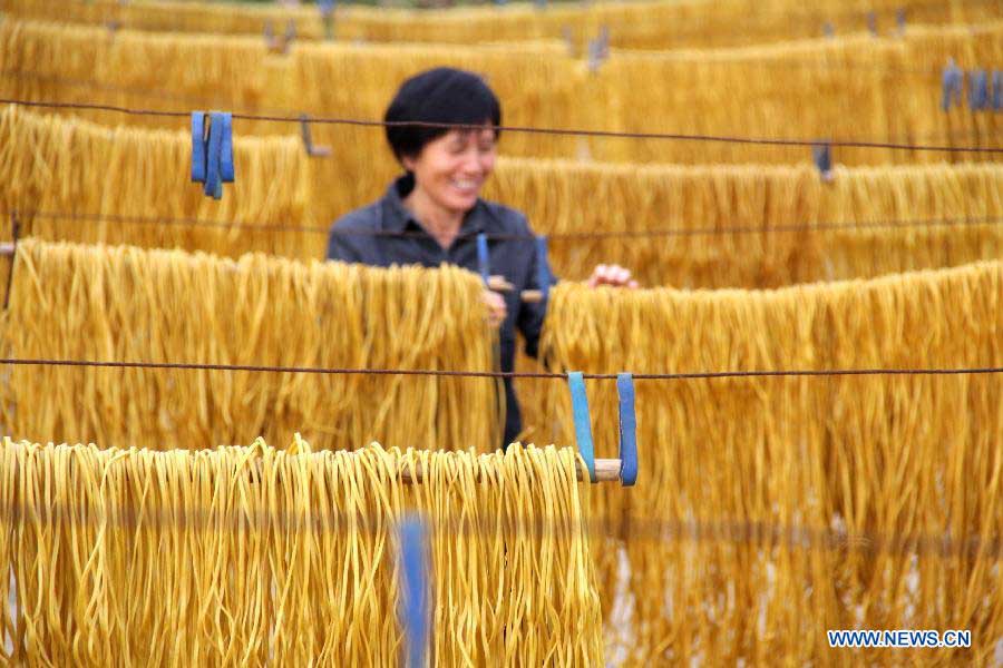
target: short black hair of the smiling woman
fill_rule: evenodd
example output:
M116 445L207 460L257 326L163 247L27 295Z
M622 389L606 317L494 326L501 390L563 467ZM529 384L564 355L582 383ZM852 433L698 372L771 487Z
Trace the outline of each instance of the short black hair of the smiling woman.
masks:
M480 125L490 120L497 128L501 125L501 104L485 80L474 72L438 67L405 81L387 107L383 120L457 125ZM449 128L386 126L386 130L387 141L400 160L416 157L426 144L441 137Z

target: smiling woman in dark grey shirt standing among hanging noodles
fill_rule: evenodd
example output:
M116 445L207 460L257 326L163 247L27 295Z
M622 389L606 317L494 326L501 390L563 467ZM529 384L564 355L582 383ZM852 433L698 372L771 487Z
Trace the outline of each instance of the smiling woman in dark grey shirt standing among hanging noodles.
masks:
M516 327L526 338L526 352L535 357L546 304L519 299L522 291L539 287L535 245L526 238L533 234L526 217L480 199L497 155L498 98L477 75L438 68L405 81L384 120L470 128L388 125L387 140L405 175L390 184L381 199L334 224L328 258L382 267L449 263L477 272L476 236L485 233L491 274L504 275L514 287L505 294L485 289L491 324L500 326L501 371L512 371ZM631 273L616 265L596 267L588 285L636 287ZM508 410L503 445L522 430L510 379L505 379L505 395Z

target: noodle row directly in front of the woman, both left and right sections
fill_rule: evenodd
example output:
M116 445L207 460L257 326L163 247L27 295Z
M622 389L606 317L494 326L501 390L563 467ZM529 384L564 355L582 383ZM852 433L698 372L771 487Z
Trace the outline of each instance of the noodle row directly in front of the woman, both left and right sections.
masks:
M25 239L13 276L10 357L476 370L493 345L469 315L477 277L455 269ZM1003 366L999 259L768 291L562 283L551 299L552 370ZM574 444L566 390L535 383L517 383L539 409L523 441ZM486 452L497 439L476 379L16 366L4 392L11 435L35 441L198 449L302 428L321 449ZM590 394L597 454L615 456L614 390ZM971 629L972 649L943 657L991 660L1001 400L999 374L639 381L639 484L592 492L607 649L884 664L902 656L837 655L825 630Z

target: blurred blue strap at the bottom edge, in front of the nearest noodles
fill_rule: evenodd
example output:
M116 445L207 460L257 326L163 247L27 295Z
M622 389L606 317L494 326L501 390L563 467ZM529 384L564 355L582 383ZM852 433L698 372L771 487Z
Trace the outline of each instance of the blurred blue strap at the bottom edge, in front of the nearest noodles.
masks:
M425 668L428 655L428 533L417 517L400 525L401 583L400 615L405 631L405 666Z

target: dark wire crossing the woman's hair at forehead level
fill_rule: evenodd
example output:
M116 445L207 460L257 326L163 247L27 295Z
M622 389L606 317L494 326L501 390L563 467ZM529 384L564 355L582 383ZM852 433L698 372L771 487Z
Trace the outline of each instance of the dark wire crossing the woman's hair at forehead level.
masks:
M49 109L89 109L98 111L114 111L130 116L158 116L168 118L188 118L191 111L165 111L156 109L132 109L128 107L118 107L114 105L94 105L84 102L49 102L19 100L11 98L0 98L0 104L17 105L23 107L40 107ZM240 120L263 120L273 122L304 122L301 116L263 116L254 114L234 112L231 115L234 119ZM325 118L310 117L305 122L315 122L322 125L344 125L358 127L418 127L418 128L437 128L437 129L477 129L481 126L471 124L452 124L452 122L425 122L425 121L387 121L387 120L364 120L358 118ZM620 139L651 139L651 140L679 140L679 141L709 141L723 144L740 145L763 145L763 146L805 146L814 147L827 145L830 147L846 148L880 148L894 150L916 150L916 151L944 151L944 153L975 153L975 154L1003 154L1003 147L986 146L933 146L922 144L899 144L892 141L865 141L856 139L787 139L787 138L768 138L768 137L738 137L728 135L685 135L679 132L626 132L615 130L582 130L582 129L564 129L564 128L538 128L529 126L496 126L498 131L504 132L527 132L536 135L556 135L556 136L576 136L576 137L603 137Z

